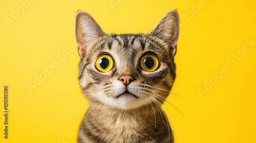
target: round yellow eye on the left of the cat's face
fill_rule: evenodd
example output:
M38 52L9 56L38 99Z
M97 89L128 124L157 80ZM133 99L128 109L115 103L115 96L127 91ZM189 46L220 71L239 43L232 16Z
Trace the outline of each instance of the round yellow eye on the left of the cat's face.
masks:
M113 59L109 55L101 55L96 60L96 68L103 73L110 71L113 66Z

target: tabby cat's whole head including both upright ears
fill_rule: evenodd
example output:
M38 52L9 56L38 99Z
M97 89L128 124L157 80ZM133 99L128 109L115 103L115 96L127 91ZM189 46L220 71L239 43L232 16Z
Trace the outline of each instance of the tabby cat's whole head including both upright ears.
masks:
M164 102L176 76L179 16L175 10L148 34L106 35L83 11L75 22L79 84L91 103L133 109Z

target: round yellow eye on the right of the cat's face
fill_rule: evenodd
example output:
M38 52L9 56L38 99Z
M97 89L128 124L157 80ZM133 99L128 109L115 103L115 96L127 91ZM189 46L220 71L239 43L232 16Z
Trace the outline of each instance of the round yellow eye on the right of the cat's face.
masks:
M141 68L147 72L155 71L158 65L159 62L157 57L151 54L143 56L140 61Z

